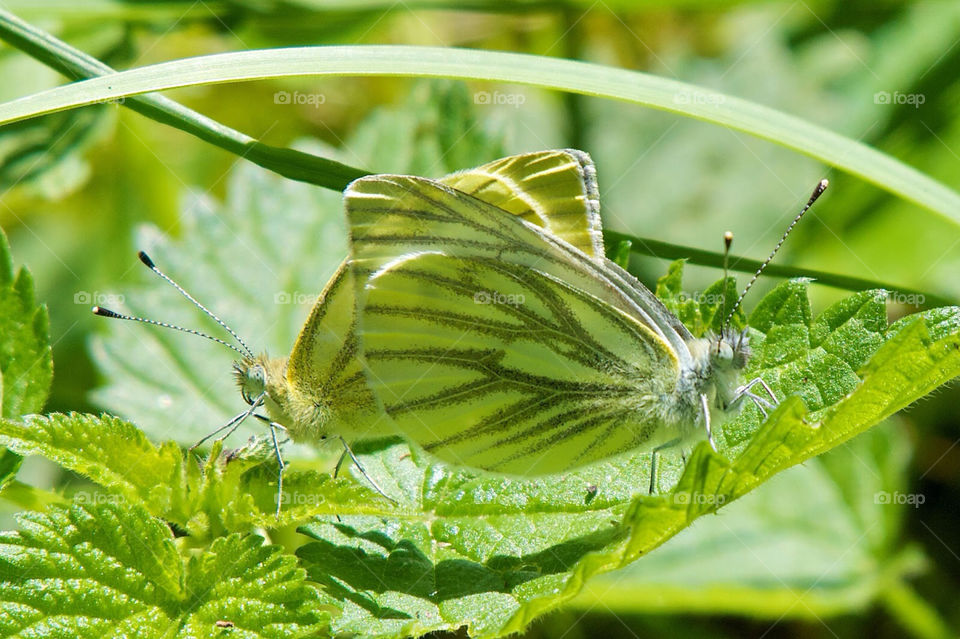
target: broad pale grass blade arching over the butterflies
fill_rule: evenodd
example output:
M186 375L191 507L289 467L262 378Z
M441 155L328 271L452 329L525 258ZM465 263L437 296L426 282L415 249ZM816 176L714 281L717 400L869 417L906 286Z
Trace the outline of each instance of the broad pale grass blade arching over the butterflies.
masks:
M776 142L960 222L960 195L889 155L800 118L703 87L598 64L414 46L331 46L222 53L92 78L0 105L0 125L152 91L292 76L493 80L624 100ZM689 99L695 95L697 99ZM687 99L678 99L686 96ZM345 182L340 184L346 186Z

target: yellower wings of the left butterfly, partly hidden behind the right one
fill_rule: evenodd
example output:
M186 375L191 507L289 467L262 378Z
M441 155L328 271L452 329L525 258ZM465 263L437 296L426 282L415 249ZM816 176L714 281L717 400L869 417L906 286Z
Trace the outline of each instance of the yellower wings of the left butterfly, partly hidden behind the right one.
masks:
M521 216L603 259L596 169L576 150L525 153L459 171L440 182ZM341 265L314 305L291 352L286 388L274 393L295 439L316 439L335 420L347 438L389 429L357 357L352 274Z

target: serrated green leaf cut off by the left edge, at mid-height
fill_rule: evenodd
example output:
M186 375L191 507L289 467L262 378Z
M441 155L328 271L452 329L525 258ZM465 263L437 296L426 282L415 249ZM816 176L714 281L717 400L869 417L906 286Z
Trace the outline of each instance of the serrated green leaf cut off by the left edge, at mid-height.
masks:
M43 408L53 381L47 308L34 298L33 278L16 274L7 236L0 230L0 398L3 417Z

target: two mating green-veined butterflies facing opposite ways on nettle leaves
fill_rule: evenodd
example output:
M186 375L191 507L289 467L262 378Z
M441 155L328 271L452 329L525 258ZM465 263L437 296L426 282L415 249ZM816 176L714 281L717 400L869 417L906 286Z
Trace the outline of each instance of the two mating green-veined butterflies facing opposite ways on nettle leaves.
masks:
M694 337L604 256L585 153L365 177L344 203L350 255L290 357L255 357L230 331L249 409L224 429L268 423L281 473L278 429L338 437L351 458L347 442L399 433L448 463L540 475L698 435L713 444L711 424L743 398L776 402L765 385L769 400L753 393L760 380L738 385L745 332Z

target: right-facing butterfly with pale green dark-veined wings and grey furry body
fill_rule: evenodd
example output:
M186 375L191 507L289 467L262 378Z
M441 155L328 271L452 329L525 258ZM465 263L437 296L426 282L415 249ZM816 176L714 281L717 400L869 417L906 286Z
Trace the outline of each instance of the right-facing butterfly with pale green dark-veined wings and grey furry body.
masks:
M568 170L596 193L584 156ZM369 389L447 463L528 476L653 451L653 492L657 451L777 401L739 384L746 330L695 337L594 245L421 177L360 178L344 201Z

